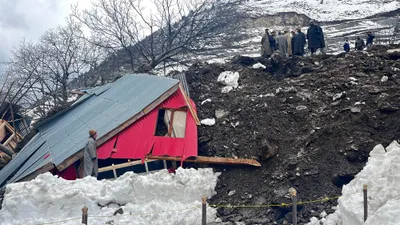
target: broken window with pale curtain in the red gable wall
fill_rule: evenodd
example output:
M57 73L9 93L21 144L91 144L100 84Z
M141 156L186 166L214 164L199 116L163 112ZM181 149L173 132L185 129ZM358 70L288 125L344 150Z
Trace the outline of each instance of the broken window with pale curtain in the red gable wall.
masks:
M156 136L184 138L187 109L159 109Z

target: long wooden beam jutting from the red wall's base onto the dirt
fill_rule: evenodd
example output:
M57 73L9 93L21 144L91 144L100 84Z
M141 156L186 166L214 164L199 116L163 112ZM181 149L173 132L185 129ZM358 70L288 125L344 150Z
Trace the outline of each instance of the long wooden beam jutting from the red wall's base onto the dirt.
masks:
M159 159L168 161L181 161L180 157L169 156L147 156L148 159ZM198 156L196 159L186 159L184 162L206 163L206 164L223 164L223 165L249 165L261 166L257 160L254 159L234 159L234 158L219 158L219 157L206 157Z

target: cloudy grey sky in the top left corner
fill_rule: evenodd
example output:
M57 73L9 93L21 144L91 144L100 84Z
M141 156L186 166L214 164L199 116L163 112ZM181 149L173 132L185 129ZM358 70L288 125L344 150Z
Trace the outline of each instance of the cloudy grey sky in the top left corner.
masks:
M0 61L7 61L24 38L35 42L47 29L64 24L76 2L89 4L89 0L0 0Z

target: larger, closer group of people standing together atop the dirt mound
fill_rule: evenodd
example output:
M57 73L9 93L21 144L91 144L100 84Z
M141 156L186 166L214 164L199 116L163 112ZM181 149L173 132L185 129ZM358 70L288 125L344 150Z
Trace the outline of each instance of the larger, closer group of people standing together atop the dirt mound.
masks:
M265 34L261 39L261 55L269 57L274 51L278 51L286 57L303 56L307 41L311 54L314 54L317 49L325 48L324 33L314 20L310 21L307 35L301 31L301 28L290 33L287 30L283 33L276 31L269 33L269 29L265 29Z

